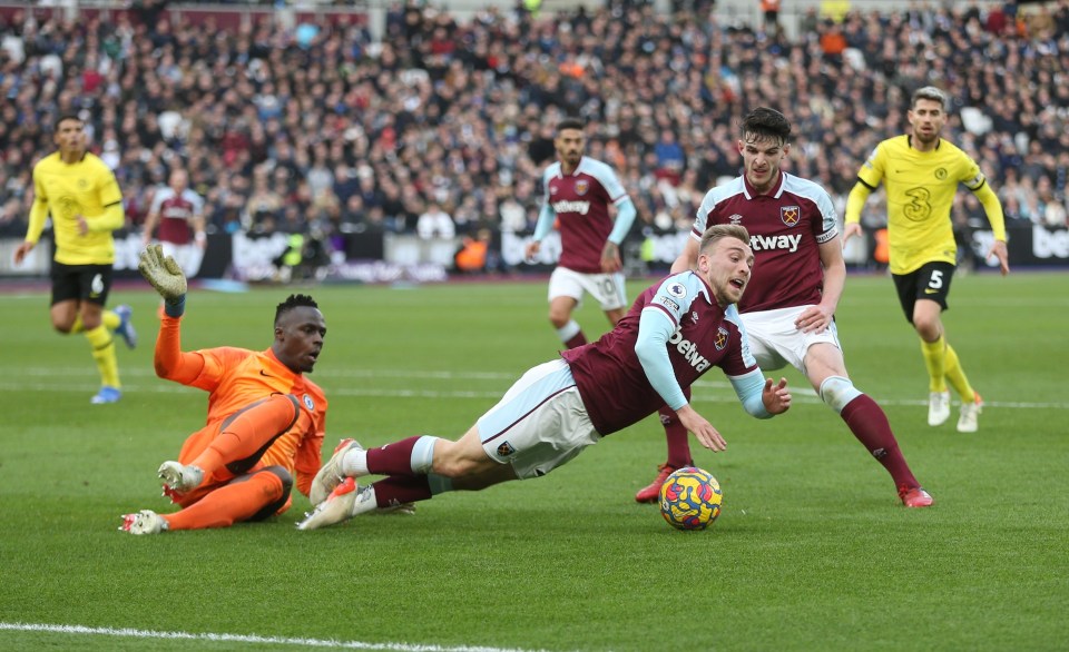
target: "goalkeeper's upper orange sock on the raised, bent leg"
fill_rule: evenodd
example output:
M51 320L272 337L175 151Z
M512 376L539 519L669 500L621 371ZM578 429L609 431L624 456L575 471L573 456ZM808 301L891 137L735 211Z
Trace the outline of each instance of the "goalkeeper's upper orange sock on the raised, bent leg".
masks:
M263 455L267 446L292 428L300 416L290 395L276 394L265 398L224 422L219 434L189 464L199 466L208 477L224 465L249 460L257 453ZM248 466L253 464L255 460Z

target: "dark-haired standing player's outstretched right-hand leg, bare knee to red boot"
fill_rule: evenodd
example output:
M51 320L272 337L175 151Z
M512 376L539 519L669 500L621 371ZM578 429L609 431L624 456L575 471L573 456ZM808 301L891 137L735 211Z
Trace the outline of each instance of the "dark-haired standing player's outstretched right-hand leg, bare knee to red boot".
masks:
M931 505L931 496L921 488L899 448L887 415L850 381L843 352L833 344L818 342L806 349L804 364L805 375L821 399L838 413L857 441L891 474L903 504Z

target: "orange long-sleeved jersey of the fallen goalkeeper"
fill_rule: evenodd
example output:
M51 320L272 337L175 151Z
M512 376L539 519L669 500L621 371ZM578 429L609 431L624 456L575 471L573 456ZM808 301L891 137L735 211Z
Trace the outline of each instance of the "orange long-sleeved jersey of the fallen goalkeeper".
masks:
M267 350L237 347L182 350L180 320L164 316L156 340L156 374L209 393L208 418L213 425L273 394L293 394L306 418L275 439L261 458L263 465L284 466L296 478L297 488L307 495L312 478L320 470L323 436L326 432L326 396L303 374L292 372Z

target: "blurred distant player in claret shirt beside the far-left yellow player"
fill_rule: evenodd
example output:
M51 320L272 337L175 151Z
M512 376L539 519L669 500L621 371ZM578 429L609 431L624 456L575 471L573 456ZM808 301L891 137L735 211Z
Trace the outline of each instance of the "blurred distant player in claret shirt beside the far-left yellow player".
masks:
M163 245L164 256L173 257L186 278L196 276L207 245L204 199L189 188L189 175L182 168L171 170L167 187L153 198L141 234L146 247L153 241L153 231L157 226L159 231L156 237Z

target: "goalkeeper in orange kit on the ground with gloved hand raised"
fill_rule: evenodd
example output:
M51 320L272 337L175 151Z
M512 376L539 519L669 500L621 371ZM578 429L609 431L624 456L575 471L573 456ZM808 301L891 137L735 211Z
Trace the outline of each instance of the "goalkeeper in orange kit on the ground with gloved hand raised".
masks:
M326 419L323 391L305 377L323 349L326 323L310 296L290 295L275 308L266 350L235 347L180 349L186 278L159 245L141 255L141 276L164 298L155 366L160 378L208 392L208 417L189 435L177 461L159 467L164 495L180 510L141 510L120 530L226 527L286 511L294 477L307 495L320 468Z

